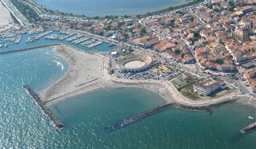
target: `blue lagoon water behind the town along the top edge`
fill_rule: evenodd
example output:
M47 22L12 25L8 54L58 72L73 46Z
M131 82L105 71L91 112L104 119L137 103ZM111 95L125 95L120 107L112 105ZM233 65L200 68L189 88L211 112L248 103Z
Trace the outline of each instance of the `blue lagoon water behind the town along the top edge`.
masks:
M142 15L147 12L166 9L187 3L185 0L35 0L49 10L85 15L88 17L106 15Z

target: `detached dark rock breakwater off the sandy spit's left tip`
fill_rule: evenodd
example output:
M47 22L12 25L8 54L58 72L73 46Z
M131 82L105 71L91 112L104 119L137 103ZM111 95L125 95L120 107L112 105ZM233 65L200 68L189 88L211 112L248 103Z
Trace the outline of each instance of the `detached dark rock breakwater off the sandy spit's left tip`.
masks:
M51 110L45 105L45 102L29 87L23 87L36 101L39 107L42 109L46 117L49 118L51 124L56 127L56 129L62 129L65 125L51 112Z

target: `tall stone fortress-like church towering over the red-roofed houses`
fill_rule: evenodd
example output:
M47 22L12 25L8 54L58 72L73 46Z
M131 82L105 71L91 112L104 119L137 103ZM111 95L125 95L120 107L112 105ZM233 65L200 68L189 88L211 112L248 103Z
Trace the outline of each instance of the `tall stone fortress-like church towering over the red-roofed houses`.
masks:
M239 42L251 41L250 39L250 27L238 27L236 26L232 32L232 37L237 39Z

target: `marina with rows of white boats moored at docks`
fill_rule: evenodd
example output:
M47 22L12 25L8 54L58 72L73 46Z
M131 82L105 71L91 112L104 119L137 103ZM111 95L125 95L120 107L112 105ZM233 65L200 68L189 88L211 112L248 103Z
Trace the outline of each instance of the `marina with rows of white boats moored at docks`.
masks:
M68 39L70 41L67 41ZM78 35L69 31L48 30L24 32L22 34L12 34L11 36L0 37L0 52L16 51L17 49L55 43L63 43L65 45L93 52L109 52L116 48L116 46L109 46L106 42L95 40L81 34Z

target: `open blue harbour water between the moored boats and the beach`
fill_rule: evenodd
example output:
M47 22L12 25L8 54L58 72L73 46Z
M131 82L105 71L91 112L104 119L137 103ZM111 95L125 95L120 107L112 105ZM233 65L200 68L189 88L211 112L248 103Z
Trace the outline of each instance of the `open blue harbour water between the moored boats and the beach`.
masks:
M60 36L64 35L64 34L60 34L57 31L54 31L50 34L57 34L57 35L60 35ZM48 35L50 35L50 34L48 34ZM9 45L8 47L3 46L3 47L0 48L0 52L13 51L13 50L16 50L16 49L28 48L28 47L33 47L33 46L41 46L41 45L46 45L46 44L53 44L53 43L57 43L57 42L61 42L61 43L66 44L66 45L77 47L77 48L83 49L85 51L92 51L92 50L97 49L100 52L107 52L107 51L111 51L112 49L116 48L116 46L114 46L114 45L109 47L108 46L109 44L107 44L106 42L103 42L103 44L100 44L100 45L95 46L93 48L87 48L86 46L82 46L81 44L73 44L71 41L45 39L44 37L46 37L46 36L40 38L39 40L35 40L34 42L27 43L26 39L28 39L31 36L35 36L35 34L33 34L33 35L23 34L21 42L19 42L18 44ZM4 45L4 44L2 44L2 45Z

